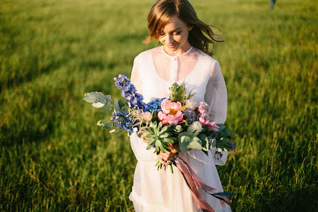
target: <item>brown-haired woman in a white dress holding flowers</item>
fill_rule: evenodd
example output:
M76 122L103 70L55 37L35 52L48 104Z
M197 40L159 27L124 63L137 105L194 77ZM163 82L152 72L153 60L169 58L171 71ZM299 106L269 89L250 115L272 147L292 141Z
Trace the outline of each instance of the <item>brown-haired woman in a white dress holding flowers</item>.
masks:
M148 15L150 36L162 46L144 51L135 57L131 81L145 103L153 99L168 98L169 87L185 82L186 91L195 93L197 104L205 101L210 106L210 120L224 123L227 111L227 90L219 63L212 59L208 44L220 41L207 24L200 21L193 6L187 0L159 0ZM224 165L227 152L215 158L215 151L206 156L200 150L173 151L156 155L146 150L147 143L133 133L130 144L138 160L135 168L130 201L136 212L200 212L182 173L173 167L174 173L155 167L155 161L168 165L176 151L202 179L218 191L222 191L215 165ZM231 211L230 206L200 189L201 195L215 212Z

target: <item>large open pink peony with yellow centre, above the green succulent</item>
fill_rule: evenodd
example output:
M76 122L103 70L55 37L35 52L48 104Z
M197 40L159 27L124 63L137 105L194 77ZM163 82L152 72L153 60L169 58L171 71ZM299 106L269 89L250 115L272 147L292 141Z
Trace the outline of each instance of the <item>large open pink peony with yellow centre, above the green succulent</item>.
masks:
M158 113L159 120L163 122L163 125L184 123L183 113L180 111L181 107L180 102L171 102L168 99L164 99L161 102L162 111Z

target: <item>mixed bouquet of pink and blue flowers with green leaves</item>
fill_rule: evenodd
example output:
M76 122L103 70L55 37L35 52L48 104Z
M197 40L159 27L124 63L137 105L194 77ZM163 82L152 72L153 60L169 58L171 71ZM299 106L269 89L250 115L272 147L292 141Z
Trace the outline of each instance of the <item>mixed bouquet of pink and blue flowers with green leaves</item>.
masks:
M201 149L205 154L211 148L217 148L215 157L220 157L222 150L235 151L235 143L229 141L232 131L222 123L209 120L209 106L204 101L200 104L191 100L194 94L187 95L185 84L173 84L170 96L155 99L148 104L143 96L136 92L135 86L123 74L114 78L121 96L125 101L115 99L101 92L84 95L84 100L103 113L113 110L111 122L98 121L98 126L111 129L111 133L127 131L128 135L137 133L148 142L147 149L154 148L155 153L171 151L171 145L179 145L181 151ZM155 163L162 167L161 163ZM172 165L170 170L173 172Z

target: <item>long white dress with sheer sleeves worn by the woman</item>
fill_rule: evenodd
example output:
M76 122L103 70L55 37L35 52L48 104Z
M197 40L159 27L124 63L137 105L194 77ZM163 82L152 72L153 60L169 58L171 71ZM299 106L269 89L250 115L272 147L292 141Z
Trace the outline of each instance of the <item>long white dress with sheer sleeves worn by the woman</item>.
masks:
M187 64L187 61L190 61L190 64ZM163 79L157 72L158 69L165 68L170 71L170 79ZM185 69L183 72L188 74L179 80L180 69ZM210 119L217 123L225 122L227 90L220 65L198 49L191 47L183 56L178 57L166 54L162 46L143 51L135 57L131 81L138 93L143 94L145 103L156 98L168 97L168 89L173 82L182 84L185 81L186 91L195 93L192 100L197 103L205 101L210 105ZM130 144L138 160L129 196L136 212L202 211L197 207L178 168L173 167L174 173L168 168L167 171L163 169L157 171L156 154L153 153L153 149L146 150L147 143L135 133L130 136ZM223 191L215 165L225 164L227 152L223 152L220 161L216 161L212 155L214 155L212 151L206 156L200 150L179 154L205 184ZM226 208L223 208L220 200L205 191L200 190L200 193L215 212L231 211L227 204Z

